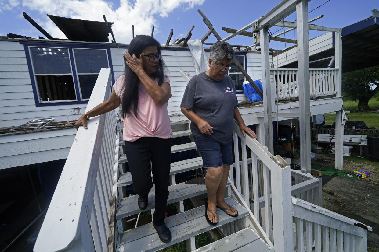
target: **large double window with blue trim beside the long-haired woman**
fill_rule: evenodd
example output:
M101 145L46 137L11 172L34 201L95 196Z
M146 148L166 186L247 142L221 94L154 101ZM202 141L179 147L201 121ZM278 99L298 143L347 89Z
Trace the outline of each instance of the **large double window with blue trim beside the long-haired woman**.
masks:
M109 67L106 49L30 46L29 53L40 104L88 100L100 68Z

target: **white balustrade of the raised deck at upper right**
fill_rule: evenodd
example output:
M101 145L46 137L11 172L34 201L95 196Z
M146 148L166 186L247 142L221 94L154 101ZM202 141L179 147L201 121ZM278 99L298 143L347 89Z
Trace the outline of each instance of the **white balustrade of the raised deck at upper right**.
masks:
M276 99L298 97L299 74L298 69L276 68L271 69L271 81L276 84ZM326 96L337 94L339 85L337 82L338 69L310 69L309 85L310 94L314 96Z

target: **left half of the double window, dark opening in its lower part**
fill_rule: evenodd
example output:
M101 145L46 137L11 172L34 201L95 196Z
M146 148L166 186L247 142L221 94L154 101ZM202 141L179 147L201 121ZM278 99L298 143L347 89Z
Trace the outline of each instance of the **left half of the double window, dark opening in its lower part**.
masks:
M76 100L67 48L30 47L30 56L41 102Z

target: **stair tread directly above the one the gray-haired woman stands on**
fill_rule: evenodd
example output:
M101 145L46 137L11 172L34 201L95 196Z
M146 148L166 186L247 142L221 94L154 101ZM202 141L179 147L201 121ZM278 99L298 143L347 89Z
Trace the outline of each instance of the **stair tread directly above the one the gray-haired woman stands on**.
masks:
M227 186L229 185L230 183L228 182ZM168 190L169 195L167 199L167 204L175 203L183 199L188 199L198 195L202 195L207 192L205 184L185 184L185 182L169 186ZM138 195L133 195L120 199L117 207L116 219L119 220L121 218L125 218L136 213L153 209L155 207L154 195L155 190L151 190L149 192L149 204L147 205L147 208L143 211L138 208Z

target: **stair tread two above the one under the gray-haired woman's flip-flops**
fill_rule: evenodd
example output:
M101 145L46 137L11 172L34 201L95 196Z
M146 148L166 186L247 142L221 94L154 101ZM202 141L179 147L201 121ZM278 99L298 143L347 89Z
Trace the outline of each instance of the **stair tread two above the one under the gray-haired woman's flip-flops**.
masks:
M201 157L174 162L171 163L170 175L180 172L187 172L201 167L203 167L203 160ZM130 174L130 172L121 173L117 182L117 187L128 186L131 184L132 175Z

